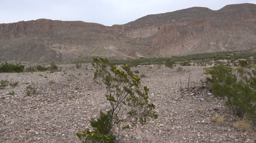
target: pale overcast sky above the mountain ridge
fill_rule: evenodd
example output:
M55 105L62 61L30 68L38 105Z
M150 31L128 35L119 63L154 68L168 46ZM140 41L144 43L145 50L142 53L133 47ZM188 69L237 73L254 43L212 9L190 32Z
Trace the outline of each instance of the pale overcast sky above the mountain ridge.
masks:
M0 0L0 23L47 18L112 26L149 14L190 7L218 10L225 5L238 3L256 4L256 0Z

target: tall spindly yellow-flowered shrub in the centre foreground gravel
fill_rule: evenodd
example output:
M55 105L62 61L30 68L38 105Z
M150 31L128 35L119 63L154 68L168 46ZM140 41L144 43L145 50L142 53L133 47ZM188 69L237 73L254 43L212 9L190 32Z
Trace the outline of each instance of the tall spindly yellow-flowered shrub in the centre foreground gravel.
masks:
M110 104L107 113L100 113L97 120L91 119L94 130L77 132L83 142L114 142L113 126L127 127L130 121L144 124L148 119L156 119L155 106L148 101L148 87L142 86L140 78L132 73L128 65L121 65L120 69L110 65L108 59L94 58L92 66L95 68L94 80L106 87L106 100ZM122 116L122 115L124 115ZM123 125L120 123L123 122Z

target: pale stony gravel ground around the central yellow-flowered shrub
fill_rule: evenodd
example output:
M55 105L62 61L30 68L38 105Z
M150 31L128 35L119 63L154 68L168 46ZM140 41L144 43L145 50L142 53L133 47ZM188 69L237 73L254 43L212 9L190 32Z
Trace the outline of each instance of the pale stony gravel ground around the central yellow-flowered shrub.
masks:
M79 142L75 133L90 127L90 118L106 110L103 86L94 83L94 70L61 65L61 72L0 73L0 80L18 86L0 89L0 142ZM159 117L145 126L123 130L123 142L255 142L255 133L235 129L235 117L200 87L203 67L134 67L145 74L149 100ZM180 90L182 83L182 91ZM26 94L26 87L38 95ZM9 92L15 95L8 95ZM211 121L213 113L225 116L222 125Z

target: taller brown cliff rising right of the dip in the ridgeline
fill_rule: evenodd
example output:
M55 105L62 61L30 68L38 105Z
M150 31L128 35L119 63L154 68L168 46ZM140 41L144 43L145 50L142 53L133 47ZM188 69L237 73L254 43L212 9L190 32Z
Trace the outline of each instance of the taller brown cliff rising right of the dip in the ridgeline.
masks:
M148 15L125 24L124 30L124 35L146 43L156 57L256 48L255 34L255 4Z

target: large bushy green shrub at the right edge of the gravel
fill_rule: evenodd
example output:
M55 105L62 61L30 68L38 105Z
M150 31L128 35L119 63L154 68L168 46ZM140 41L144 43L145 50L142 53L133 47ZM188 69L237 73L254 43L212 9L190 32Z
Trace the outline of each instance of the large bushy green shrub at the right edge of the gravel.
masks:
M256 78L255 71L240 71L238 75L232 73L231 67L218 65L206 69L211 77L205 83L211 88L215 97L224 100L231 113L243 117L248 114L255 119Z

